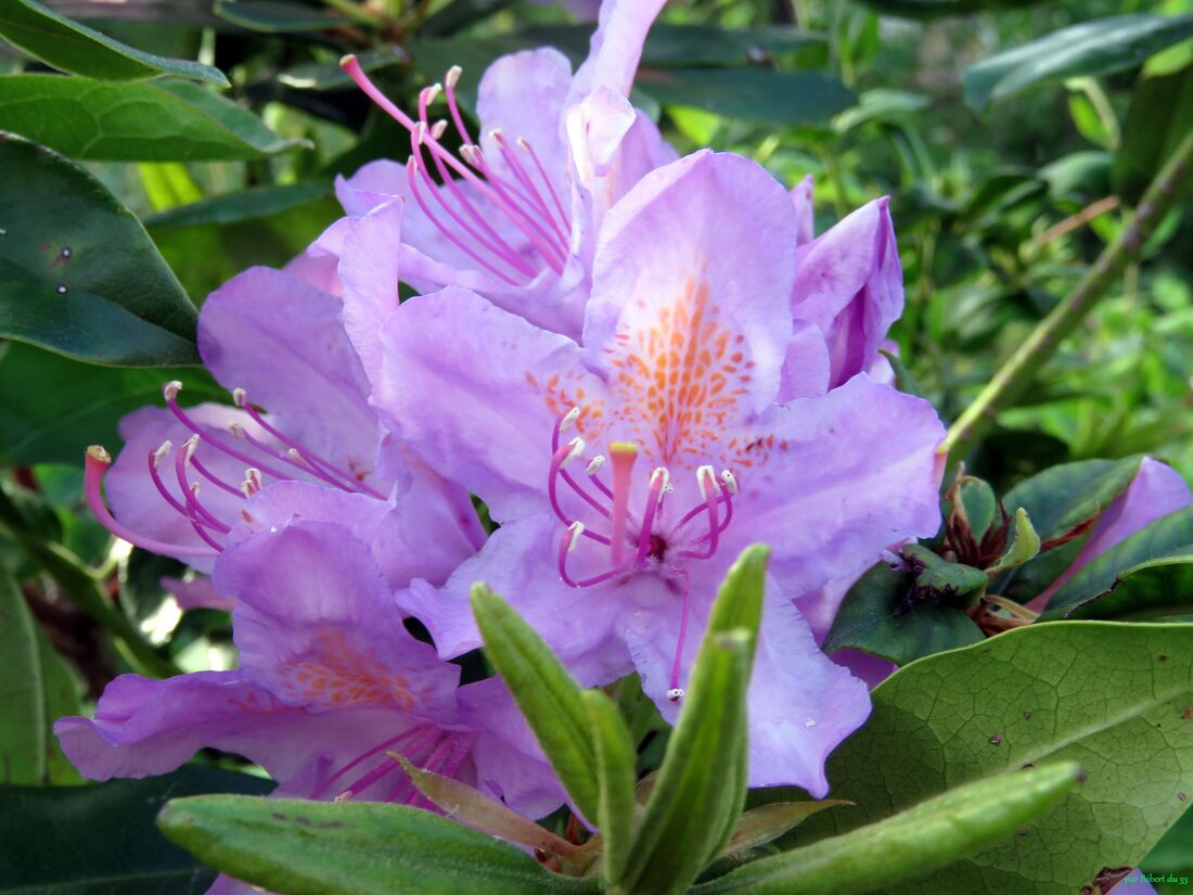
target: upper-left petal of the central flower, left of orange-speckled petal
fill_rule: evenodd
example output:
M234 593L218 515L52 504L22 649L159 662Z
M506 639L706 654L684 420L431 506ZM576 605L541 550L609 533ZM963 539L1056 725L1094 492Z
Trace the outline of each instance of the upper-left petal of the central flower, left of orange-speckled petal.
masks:
M459 289L403 304L382 344L373 401L426 463L497 520L544 510L555 421L602 400L579 346ZM596 430L581 418L579 431Z

